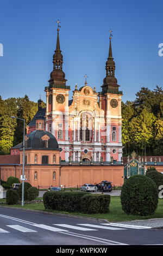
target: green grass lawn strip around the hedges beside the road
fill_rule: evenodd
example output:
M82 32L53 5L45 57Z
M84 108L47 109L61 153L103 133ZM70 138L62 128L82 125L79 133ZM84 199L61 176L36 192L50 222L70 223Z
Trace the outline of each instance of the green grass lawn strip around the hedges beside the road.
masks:
M40 198L39 198L40 199ZM0 199L1 203L5 202L5 199ZM4 205L4 204L3 204ZM40 210L40 211L49 211L49 212L59 212L53 210L45 210L43 203L34 203L34 204L25 204L23 207L21 204L19 205L6 205L10 207L20 207L24 209L33 209L33 210ZM70 213L70 212L61 212L61 213ZM134 221L136 219L151 219L151 218L163 218L163 199L159 199L158 208L154 212L153 215L149 216L137 216L137 215L127 215L124 211L122 211L121 200L120 197L111 197L110 202L110 212L109 213L98 213L98 214L85 214L79 212L72 212L73 215L78 216L86 216L86 217L95 217L95 218L103 218L108 219L108 221L116 222L116 221Z

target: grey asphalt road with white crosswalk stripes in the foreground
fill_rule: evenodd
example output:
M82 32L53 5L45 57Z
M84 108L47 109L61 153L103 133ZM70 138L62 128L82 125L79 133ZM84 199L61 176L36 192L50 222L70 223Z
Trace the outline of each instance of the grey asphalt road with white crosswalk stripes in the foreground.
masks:
M0 245L157 245L162 230L0 207Z

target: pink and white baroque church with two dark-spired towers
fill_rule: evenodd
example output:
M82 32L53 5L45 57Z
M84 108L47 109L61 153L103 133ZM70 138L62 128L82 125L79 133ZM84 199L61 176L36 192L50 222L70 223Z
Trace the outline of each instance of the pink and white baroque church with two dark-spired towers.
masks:
M111 34L106 76L101 92L87 84L73 91L66 85L62 70L63 56L60 50L59 27L57 46L53 55L53 71L49 85L45 87L46 108L42 100L33 120L27 126L27 134L36 129L52 133L61 148L61 160L80 162L121 161L122 157L122 91L115 78L115 62L112 57ZM36 122L37 120L37 122ZM38 122L39 120L39 122Z

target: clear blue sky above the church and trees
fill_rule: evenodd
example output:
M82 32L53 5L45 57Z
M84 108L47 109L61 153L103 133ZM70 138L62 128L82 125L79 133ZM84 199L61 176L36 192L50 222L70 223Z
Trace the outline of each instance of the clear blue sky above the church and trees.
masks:
M0 95L45 101L53 70L57 23L61 21L63 70L72 91L87 83L101 91L112 29L115 76L122 100L134 100L142 86L163 85L163 43L160 0L0 0Z

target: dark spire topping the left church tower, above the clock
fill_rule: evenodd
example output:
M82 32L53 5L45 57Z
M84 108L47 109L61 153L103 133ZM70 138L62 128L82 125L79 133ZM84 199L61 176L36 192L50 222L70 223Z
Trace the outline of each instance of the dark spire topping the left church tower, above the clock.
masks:
M53 55L53 71L51 72L51 79L49 80L50 87L60 86L62 88L66 87L66 79L65 73L62 71L62 64L63 64L63 56L60 50L60 41L59 41L59 28L61 27L60 21L56 21L58 23L57 28L57 44L55 53Z

